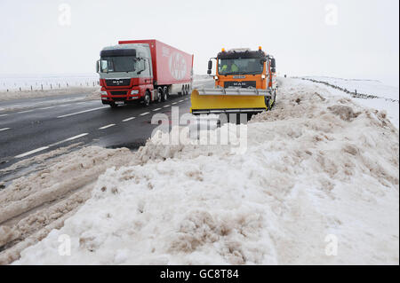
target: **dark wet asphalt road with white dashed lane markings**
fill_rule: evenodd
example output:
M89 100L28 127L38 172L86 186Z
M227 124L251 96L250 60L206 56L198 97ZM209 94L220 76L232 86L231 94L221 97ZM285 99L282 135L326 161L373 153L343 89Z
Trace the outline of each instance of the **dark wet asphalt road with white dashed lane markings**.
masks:
M190 97L171 96L162 103L119 106L112 109L84 94L53 98L31 98L0 103L0 169L36 154L50 152L76 142L103 147L137 148L157 125L154 114L171 119L172 106L188 113ZM20 108L6 111L6 107ZM26 108L28 106L28 108ZM1 110L3 108L3 110ZM1 177L0 177L1 179Z

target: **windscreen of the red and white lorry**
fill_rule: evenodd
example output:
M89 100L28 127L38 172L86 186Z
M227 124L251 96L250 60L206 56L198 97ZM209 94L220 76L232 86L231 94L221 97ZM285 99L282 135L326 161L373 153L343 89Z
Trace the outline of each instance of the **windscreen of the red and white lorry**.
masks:
M100 59L101 73L134 72L137 59L134 56L113 56Z

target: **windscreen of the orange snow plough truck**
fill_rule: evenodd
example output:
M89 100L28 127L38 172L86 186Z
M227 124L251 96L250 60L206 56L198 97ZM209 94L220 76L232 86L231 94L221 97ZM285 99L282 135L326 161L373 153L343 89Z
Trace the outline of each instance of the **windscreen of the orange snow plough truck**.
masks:
M263 64L260 59L219 59L218 73L220 75L250 75L261 74Z

